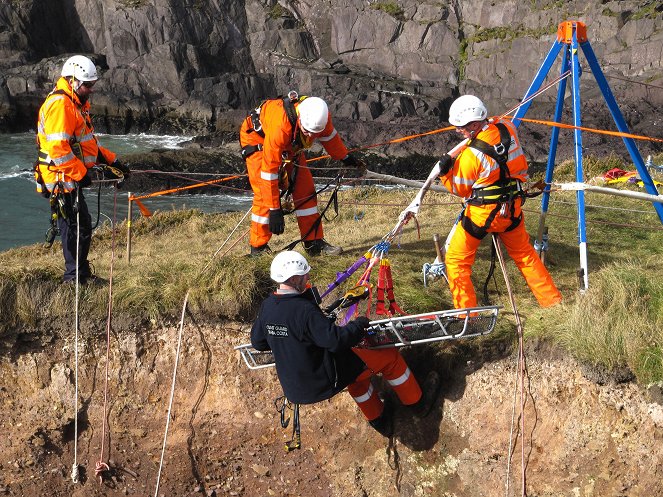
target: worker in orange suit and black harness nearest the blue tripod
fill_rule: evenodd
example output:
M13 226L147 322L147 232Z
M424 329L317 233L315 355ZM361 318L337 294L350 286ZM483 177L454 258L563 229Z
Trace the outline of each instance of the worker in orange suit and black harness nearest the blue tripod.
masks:
M487 119L488 111L474 95L457 98L449 108L449 122L471 140L452 159L436 164L440 179L452 193L464 198L464 210L447 238L445 264L456 308L476 307L472 265L481 240L496 233L542 307L562 300L525 230L522 183L528 165L515 126Z

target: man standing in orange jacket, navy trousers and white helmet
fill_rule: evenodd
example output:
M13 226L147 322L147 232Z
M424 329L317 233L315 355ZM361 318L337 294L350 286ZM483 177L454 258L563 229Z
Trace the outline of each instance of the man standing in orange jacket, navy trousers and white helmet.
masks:
M37 191L51 199L51 208L57 215L65 260L64 282L75 281L77 268L81 283L96 280L87 260L92 221L81 191L92 183L90 169L101 165L104 178L115 180L116 185L129 175L129 169L94 135L89 97L97 79L97 68L89 58L70 57L39 109L35 179Z

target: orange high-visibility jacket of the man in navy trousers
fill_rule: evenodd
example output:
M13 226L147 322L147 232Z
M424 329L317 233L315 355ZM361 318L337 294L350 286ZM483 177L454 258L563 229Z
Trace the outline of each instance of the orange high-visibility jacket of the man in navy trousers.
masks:
M65 191L70 191L89 168L100 161L112 164L115 160L115 154L97 142L89 111L90 102L81 104L65 78L58 80L39 109L37 167L49 191L58 181ZM40 190L38 182L37 191Z

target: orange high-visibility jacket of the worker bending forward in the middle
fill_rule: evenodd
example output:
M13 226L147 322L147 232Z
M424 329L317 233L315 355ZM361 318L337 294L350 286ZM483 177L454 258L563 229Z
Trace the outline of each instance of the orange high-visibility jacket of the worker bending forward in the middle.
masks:
M348 149L334 128L331 113L325 129L316 135L314 140L311 140L300 132L297 124L293 130L283 105L283 99L278 98L267 100L260 106L260 124L265 135L264 138L253 131L254 124L251 122L251 117L244 120L240 129L242 147L262 146L260 185L258 186L262 192L262 198L270 201L269 205L265 206L270 209L278 209L281 205L279 202L279 167L284 161L295 160L297 162L296 158L299 153L311 147L315 140L322 144L332 159L341 160L348 155ZM299 102L295 102L294 105L297 110Z

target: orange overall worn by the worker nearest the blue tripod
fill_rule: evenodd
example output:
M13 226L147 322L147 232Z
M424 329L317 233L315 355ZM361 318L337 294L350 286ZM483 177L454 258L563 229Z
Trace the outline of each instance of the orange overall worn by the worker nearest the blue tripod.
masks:
M515 183L514 180L526 181L527 159L520 147L515 127L509 121L499 122L506 126L511 136L506 162L508 178L512 183ZM475 139L495 146L501 142L500 131L495 124L487 124ZM463 150L449 172L441 177L444 186L469 201L447 243L445 263L454 306L477 306L471 281L472 265L479 244L487 233L497 233L539 304L542 307L555 305L561 302L562 295L530 243L521 209L523 196L515 196L508 204L477 205L470 200L476 197L477 191L494 186L500 179L498 162L472 146Z

